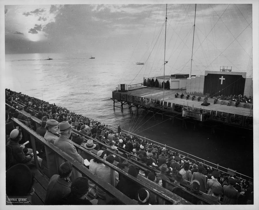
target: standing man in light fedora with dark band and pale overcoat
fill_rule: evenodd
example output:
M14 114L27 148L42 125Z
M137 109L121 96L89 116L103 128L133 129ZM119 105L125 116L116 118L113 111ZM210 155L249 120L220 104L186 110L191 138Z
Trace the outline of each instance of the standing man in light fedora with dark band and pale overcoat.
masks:
M59 129L57 132L60 133L60 137L54 141L54 145L60 148L61 150L63 150L64 152L66 152L68 155L70 155L78 162L83 164L84 159L78 154L75 146L73 145L72 141L69 139L69 137L72 134L72 130L71 130L72 128L74 127L71 126L68 123L68 121L62 121L61 123L59 123ZM57 165L61 165L62 163L64 163L64 160L61 159L56 154L56 162L57 162ZM72 171L73 171L71 176L72 181L82 176L82 174L79 173L75 168L73 168Z

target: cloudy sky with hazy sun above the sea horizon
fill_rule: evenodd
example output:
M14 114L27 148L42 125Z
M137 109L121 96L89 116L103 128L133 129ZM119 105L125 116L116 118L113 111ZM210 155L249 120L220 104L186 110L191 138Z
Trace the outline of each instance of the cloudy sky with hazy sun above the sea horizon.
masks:
M4 5L5 54L164 59L165 4L41 3ZM195 4L167 5L165 60L176 71L190 65L194 14ZM252 4L197 4L195 21L194 66L230 65L252 75Z

